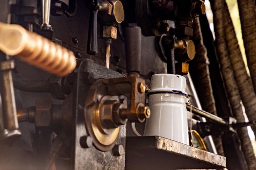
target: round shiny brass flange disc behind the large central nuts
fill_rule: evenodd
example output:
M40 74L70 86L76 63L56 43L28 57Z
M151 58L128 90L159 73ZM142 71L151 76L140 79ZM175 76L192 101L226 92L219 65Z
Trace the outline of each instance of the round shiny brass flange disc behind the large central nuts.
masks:
M116 100L118 97L108 96L107 86L102 84L102 79L97 80L89 89L84 104L84 120L86 130L93 138L94 145L101 151L109 151L116 143L119 127L105 129L102 127L100 108L105 101ZM105 133L104 131L108 131Z

